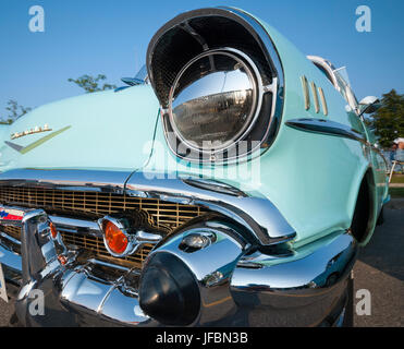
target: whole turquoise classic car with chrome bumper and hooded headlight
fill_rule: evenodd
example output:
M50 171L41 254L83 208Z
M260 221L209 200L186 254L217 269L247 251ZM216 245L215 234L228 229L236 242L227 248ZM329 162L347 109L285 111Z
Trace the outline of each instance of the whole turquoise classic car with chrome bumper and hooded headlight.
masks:
M352 324L351 272L389 200L363 118L378 99L234 8L174 17L146 67L0 129L20 324Z

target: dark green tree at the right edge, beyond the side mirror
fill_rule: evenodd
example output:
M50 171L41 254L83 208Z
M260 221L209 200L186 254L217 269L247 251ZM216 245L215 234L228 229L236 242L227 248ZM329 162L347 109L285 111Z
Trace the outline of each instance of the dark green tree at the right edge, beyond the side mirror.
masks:
M383 94L381 107L367 119L382 147L390 147L396 137L404 137L404 95L395 89Z

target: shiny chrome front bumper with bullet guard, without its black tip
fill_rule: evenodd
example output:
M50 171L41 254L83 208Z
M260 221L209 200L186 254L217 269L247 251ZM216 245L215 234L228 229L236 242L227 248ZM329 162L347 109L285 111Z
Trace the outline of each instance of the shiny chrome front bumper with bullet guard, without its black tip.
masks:
M23 285L15 308L23 324L163 325L140 308L139 270L81 260L60 239L51 238L49 222L41 209L27 212L22 220ZM209 246L191 253L182 250L185 227L148 257L170 254L192 270L200 308L189 325L315 326L329 318L335 306L340 308L329 324L341 322L343 294L357 250L350 234L335 233L292 253L270 255L253 251L234 234L233 227L204 224L217 237ZM2 257L5 269L20 267L17 258L10 257L16 257L12 253ZM45 314L29 313L33 294L37 294L34 290L45 296Z

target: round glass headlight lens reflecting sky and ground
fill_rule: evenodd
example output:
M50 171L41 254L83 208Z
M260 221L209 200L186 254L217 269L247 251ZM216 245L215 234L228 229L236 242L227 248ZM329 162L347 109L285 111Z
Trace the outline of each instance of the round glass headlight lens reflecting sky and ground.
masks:
M171 125L187 146L221 151L253 127L260 101L254 63L236 50L204 52L177 75L170 94Z

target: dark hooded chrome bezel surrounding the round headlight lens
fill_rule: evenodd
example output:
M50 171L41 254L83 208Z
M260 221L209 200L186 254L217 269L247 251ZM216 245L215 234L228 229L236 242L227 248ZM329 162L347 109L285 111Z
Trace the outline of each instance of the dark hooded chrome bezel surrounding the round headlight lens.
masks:
M260 110L256 108L258 116L252 122L250 129L243 132L228 148L200 152L198 147L189 147L176 135L169 110L169 96L174 80L191 60L206 51L227 48L243 52L258 69L257 76L262 87ZM160 103L163 135L177 160L199 165L230 165L260 156L274 142L283 113L284 72L271 36L256 17L225 7L182 13L155 34L148 46L146 64L150 84ZM203 115L204 112L200 113ZM233 130L237 127L238 124ZM215 132L210 132L210 135L212 134ZM200 137L198 141L199 144L203 142Z

